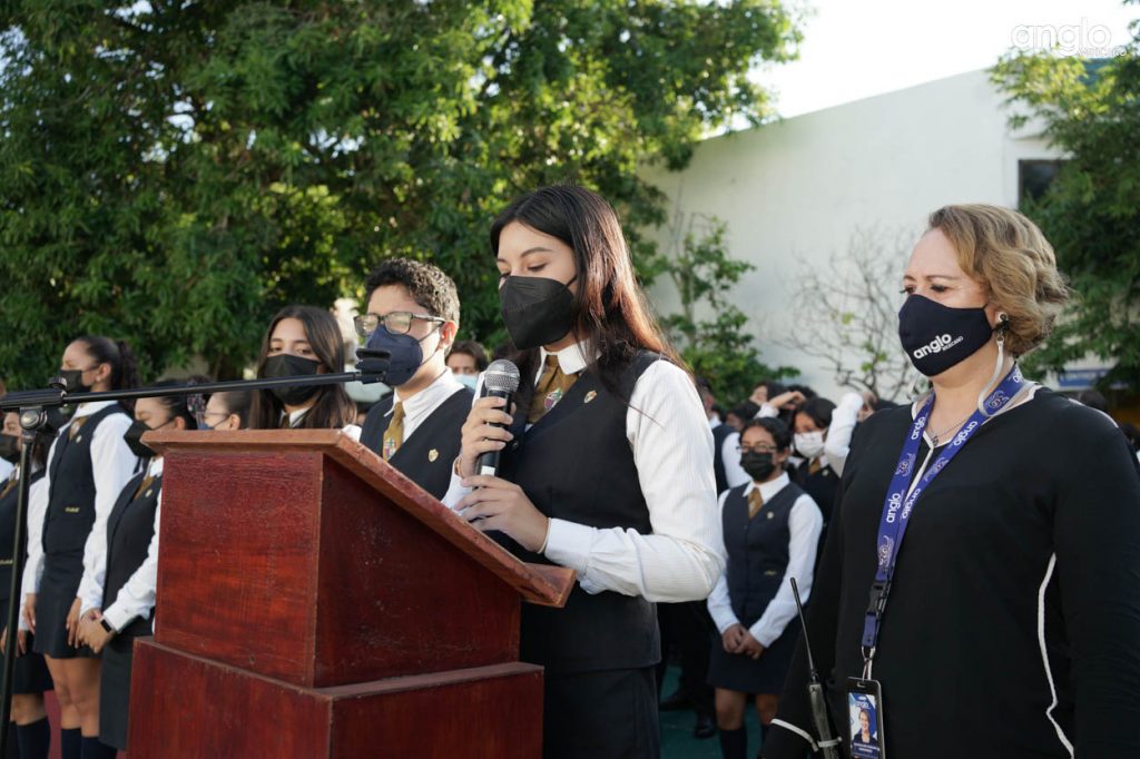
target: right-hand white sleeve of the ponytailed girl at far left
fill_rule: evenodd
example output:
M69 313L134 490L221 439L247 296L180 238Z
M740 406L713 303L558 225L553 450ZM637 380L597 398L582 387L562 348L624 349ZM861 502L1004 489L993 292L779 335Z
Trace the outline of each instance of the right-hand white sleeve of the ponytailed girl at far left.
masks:
M103 581L107 572L107 517L123 488L135 476L138 457L131 452L123 433L132 421L125 414L105 417L91 440L91 471L95 473L95 524L83 546L83 579L76 595L82 612L103 605Z

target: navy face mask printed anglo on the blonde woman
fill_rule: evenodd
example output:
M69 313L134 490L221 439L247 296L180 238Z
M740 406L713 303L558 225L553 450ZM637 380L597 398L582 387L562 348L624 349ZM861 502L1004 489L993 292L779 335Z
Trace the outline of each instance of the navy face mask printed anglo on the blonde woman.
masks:
M974 356L992 335L984 308L952 309L911 295L898 310L898 340L914 368L928 377Z

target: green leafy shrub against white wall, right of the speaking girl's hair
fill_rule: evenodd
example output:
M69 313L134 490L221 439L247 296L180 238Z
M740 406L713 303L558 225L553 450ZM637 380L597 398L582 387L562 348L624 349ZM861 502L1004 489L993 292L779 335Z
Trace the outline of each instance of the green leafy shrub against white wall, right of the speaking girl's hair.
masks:
M694 230L698 226L699 231ZM752 335L746 330L748 317L728 301L740 278L755 267L728 254L727 231L719 219L690 219L689 223L678 219L673 235L679 237L677 250L654 256L653 266L669 277L681 299L681 312L663 319L674 344L693 372L709 381L720 402L732 405L751 395L762 379L791 376L796 370L773 369L760 361Z

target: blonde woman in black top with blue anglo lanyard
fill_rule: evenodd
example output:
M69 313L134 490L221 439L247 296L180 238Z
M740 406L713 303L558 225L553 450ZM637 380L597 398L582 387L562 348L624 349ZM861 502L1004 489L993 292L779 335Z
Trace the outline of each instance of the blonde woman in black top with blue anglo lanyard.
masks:
M1052 247L1015 211L946 206L903 288L933 389L856 431L808 611L839 737L854 753L873 699L883 756L1140 756L1137 465L1017 367L1068 300ZM801 644L767 759L816 741L807 679Z

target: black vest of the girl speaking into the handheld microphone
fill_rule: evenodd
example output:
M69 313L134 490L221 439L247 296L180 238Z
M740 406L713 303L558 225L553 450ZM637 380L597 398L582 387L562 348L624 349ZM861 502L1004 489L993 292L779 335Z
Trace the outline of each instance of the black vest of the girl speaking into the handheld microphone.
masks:
M640 354L624 373L629 398L637 378L660 357ZM522 487L546 516L598 529L652 532L633 449L626 436L629 406L593 373L583 373L554 408L530 430L534 385L524 383L503 451L500 476ZM500 533L492 536L522 561L549 564ZM564 609L522 605L520 659L552 671L583 672L656 664L661 658L657 607L641 596L591 595L575 583Z

